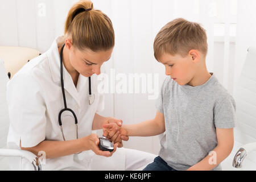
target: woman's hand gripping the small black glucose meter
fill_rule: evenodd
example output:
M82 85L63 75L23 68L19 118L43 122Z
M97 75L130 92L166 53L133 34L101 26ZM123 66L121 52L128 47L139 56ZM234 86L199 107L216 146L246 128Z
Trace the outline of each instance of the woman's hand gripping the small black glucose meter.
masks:
M89 136L87 136L85 138L87 139L90 150L92 150L96 155L110 157L117 150L118 143L114 144L113 152L100 150L100 147L98 146L98 144L100 143L100 139L98 139L98 135L96 135L96 134L90 134Z

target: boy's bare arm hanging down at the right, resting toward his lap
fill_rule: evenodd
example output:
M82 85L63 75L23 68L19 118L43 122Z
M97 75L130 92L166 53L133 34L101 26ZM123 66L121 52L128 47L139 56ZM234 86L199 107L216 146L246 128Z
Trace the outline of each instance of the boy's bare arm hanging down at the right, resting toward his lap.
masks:
M187 171L211 170L229 156L234 146L233 129L216 128L216 135L218 142L217 147L203 160L190 167Z

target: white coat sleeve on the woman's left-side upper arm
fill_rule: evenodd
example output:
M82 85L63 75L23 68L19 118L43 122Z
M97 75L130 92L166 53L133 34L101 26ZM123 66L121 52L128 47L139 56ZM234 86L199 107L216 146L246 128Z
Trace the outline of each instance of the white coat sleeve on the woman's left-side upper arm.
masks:
M39 83L28 74L14 76L7 84L10 127L17 146L34 147L46 138L46 104Z

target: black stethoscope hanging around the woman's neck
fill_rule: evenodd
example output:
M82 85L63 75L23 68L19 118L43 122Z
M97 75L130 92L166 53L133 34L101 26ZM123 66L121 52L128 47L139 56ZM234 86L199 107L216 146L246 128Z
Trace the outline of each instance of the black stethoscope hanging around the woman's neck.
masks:
M72 113L73 117L75 118L75 125L76 125L76 139L78 139L78 128L77 128L77 117L76 117L76 114L75 112L72 110L72 109L69 109L67 107L67 102L66 102L66 97L65 97L65 92L64 92L64 81L63 81L63 49L64 49L64 46L65 44L63 45L63 47L61 47L61 50L60 50L60 81L61 81L61 90L62 90L62 94L63 94L63 101L64 101L64 109L60 111L59 113L59 125L60 125L60 130L61 130L61 133L62 133L62 137L65 141L65 137L64 137L64 133L63 133L63 128L62 128L62 123L61 123L61 114L64 112L64 111L69 111ZM93 94L92 95L92 92L91 92L91 83L90 83L90 77L89 77L89 105L92 105L93 102L94 102L94 98L95 98L95 95Z

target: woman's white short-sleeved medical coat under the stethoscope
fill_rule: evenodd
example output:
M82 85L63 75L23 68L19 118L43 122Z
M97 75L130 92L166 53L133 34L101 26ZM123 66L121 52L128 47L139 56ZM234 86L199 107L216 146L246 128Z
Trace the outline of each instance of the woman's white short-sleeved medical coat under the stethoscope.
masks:
M43 140L63 140L58 122L59 112L64 109L58 51L58 47L64 43L63 40L63 36L56 38L47 52L24 65L7 84L7 104L10 115L7 138L9 148L19 148L20 140L22 147L34 147ZM79 138L86 137L92 133L94 114L104 109L104 95L97 92L97 76L94 74L91 77L92 94L95 94L92 105L89 105L88 77L80 75L75 87L72 77L63 66L63 78L67 107L77 116ZM71 113L61 117L61 121L65 139L76 139ZM109 166L108 169L124 170L125 152L121 148L117 151L120 155L115 155L118 152L113 154L117 159L112 163L113 167ZM96 156L92 151L84 151L81 154L46 159L42 169L90 170L92 161L97 169L97 166L102 166L102 159L110 160ZM32 165L26 159L12 159L11 164L13 167L19 164L23 170L32 169Z

